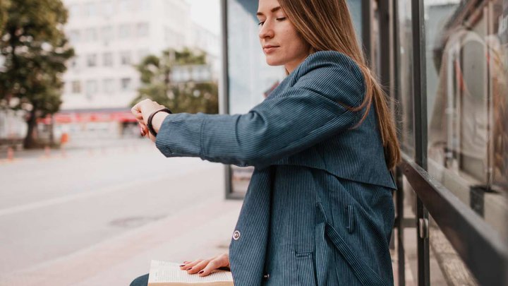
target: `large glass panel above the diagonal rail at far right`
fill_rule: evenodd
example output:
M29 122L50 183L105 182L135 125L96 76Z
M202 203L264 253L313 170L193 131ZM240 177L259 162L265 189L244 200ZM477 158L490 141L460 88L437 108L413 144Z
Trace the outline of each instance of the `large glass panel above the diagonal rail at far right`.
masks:
M468 2L425 1L428 169L506 238L507 1Z

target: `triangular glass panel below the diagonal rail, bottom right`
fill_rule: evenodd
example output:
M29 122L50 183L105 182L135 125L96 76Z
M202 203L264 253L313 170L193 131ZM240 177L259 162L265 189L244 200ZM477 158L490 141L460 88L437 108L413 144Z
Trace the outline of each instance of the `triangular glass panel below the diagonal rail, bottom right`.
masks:
M429 216L430 285L478 285L440 227Z

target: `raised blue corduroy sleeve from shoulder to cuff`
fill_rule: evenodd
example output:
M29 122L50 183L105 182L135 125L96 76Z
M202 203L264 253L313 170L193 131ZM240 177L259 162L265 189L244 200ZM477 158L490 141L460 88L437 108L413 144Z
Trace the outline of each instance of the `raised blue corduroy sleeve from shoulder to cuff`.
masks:
M343 105L361 104L363 76L346 56L337 61L311 56L298 67L294 85L246 114L169 114L157 148L166 157L265 167L346 131L361 114Z

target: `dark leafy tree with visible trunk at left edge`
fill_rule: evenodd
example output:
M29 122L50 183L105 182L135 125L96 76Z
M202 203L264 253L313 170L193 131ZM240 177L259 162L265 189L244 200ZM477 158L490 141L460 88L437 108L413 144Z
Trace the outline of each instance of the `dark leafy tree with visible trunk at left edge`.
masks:
M0 0L1 2L5 0ZM25 148L37 145L37 119L57 112L61 105L66 61L74 50L63 32L68 12L60 0L15 0L2 6L0 25L0 106L24 109L28 133ZM0 21L1 24L1 21Z

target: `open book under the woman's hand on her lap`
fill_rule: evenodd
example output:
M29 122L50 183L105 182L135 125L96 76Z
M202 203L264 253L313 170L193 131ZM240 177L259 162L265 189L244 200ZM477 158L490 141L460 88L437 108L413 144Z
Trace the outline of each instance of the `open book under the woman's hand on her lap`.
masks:
M152 260L148 286L234 286L230 271L217 269L201 277L181 270L180 264Z

